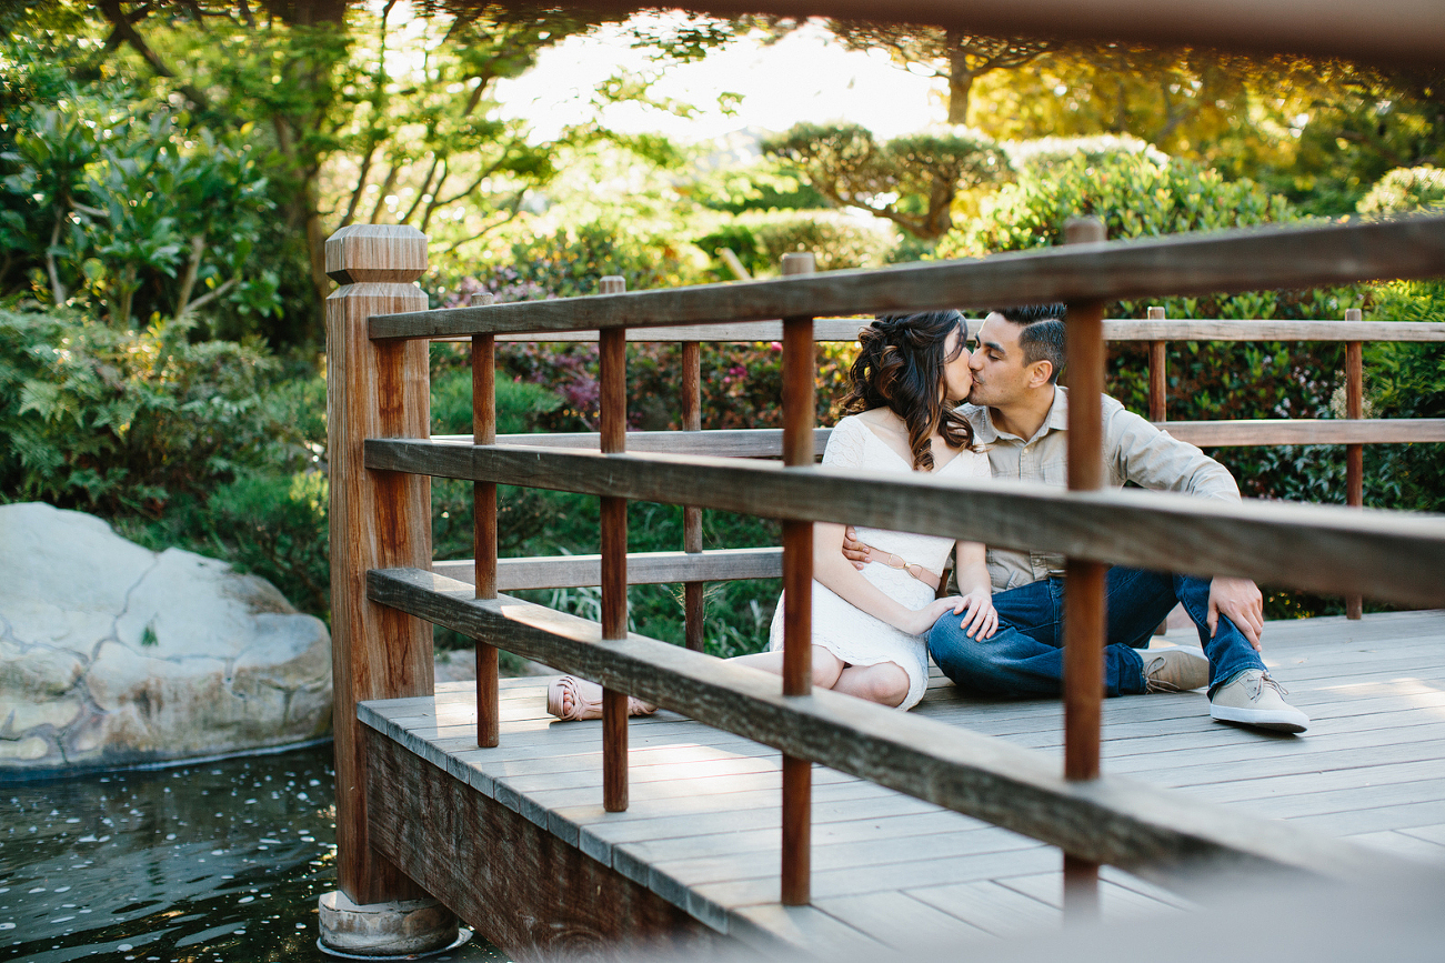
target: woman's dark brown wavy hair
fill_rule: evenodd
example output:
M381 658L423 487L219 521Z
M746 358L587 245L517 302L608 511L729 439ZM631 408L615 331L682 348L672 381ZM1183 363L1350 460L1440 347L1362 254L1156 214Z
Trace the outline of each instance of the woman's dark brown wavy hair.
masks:
M944 356L948 335L958 346ZM858 333L858 360L848 372L842 408L850 415L887 408L907 427L915 471L933 470L928 444L936 429L951 448L971 448L974 429L942 396L944 364L958 357L968 340L968 322L958 311L886 314ZM955 399L962 401L962 399Z

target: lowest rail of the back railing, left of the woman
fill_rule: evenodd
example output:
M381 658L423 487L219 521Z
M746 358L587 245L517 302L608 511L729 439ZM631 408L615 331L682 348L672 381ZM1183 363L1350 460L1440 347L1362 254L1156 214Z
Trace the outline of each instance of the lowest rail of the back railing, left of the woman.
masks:
M434 561L432 571L475 584L475 562ZM720 548L705 552L629 552L627 584L656 586L669 581L736 581L780 578L782 548ZM497 590L574 588L603 584L601 555L558 555L497 560Z

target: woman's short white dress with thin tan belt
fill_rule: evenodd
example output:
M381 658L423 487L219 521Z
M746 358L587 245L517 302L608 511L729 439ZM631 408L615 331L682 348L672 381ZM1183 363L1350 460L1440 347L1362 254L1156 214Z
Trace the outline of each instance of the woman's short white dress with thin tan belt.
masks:
M864 471L890 471L910 474L913 466L873 434L855 415L841 419L828 438L822 463L835 468L861 468ZM980 451L961 451L952 461L933 473L946 479L987 479L988 455ZM938 535L912 535L889 532L877 528L858 526L858 539L880 552L893 552L902 561L919 564L932 573L939 573L954 548L954 539ZM909 609L923 609L933 602L933 590L900 568L883 562L868 562L863 577L886 591L892 599ZM907 672L907 697L899 709L912 709L923 698L928 688L928 642L922 635L907 635L887 622L854 607L845 599L834 594L822 583L814 581L812 604L814 645L821 645L850 665L877 665L896 662ZM769 630L769 648L783 648L783 600L777 600L773 625Z

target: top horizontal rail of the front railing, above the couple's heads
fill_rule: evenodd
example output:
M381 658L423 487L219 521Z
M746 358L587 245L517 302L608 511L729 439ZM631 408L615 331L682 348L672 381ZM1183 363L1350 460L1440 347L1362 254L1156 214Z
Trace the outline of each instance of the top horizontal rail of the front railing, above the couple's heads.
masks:
M1048 301L1116 301L1445 275L1445 217L1068 244L977 260L374 315L373 338L585 331ZM1027 292L1027 296L1020 296Z

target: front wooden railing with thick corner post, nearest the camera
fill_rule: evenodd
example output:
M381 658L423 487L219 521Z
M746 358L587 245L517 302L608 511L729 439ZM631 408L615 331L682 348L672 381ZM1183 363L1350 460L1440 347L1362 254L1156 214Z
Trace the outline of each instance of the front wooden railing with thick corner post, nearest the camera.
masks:
M422 622L406 616L475 638L481 646L478 665L486 646L503 646L600 681L608 693L603 724L608 808L626 805L624 694L780 749L785 759L793 761L788 765L790 775L785 775L785 785L792 785L783 804L785 902L808 901L806 788L812 762L1056 844L1066 853L1072 882L1087 883L1098 863L1155 876L1199 862L1289 866L1327 875L1376 866L1376 857L1342 842L1098 776L1101 687L1088 684L1088 678L1097 678L1092 664L1103 656L1103 625L1097 617L1075 617L1075 610L1066 658L1084 668L1071 669L1066 682L1064 774L1038 753L1001 740L829 691L808 693L811 539L803 539L802 532L818 521L848 522L1062 552L1077 562L1069 570L1075 578L1069 594L1095 607L1098 586L1082 591L1078 583L1097 583L1088 577L1090 567L1097 571L1104 564L1244 575L1293 588L1358 591L1403 604L1439 606L1445 603L1445 519L1097 490L1097 479L1074 474L1075 490L1062 492L1019 483L942 483L922 476L897 480L814 467L818 442L811 425L811 348L816 331L811 318L844 311L967 309L1064 299L1071 305L1071 318L1081 321L1071 322L1075 392L1097 396L1104 301L1445 275L1445 218L1084 243L981 262L449 311L409 309L419 295L409 294L415 289L405 282L420 275L425 239L407 236L405 228L379 239L370 233L374 230L345 228L328 243L328 269L347 285L328 302L328 340L338 865L341 885L353 899L397 898L406 888L405 879L399 881L386 865L384 856L397 855L386 840L367 836L364 794L357 800L366 779L360 740L342 740L342 729L358 724L358 698L429 691L429 633L418 628ZM626 395L617 390L627 331L779 317L786 318L789 385L785 464L624 451L634 442L620 429ZM494 425L488 424L491 399L486 396L490 373L480 370L491 363L494 340L588 330L601 331L604 338L600 450L496 440ZM415 388L418 382L425 386L425 353L413 348L423 347L428 338L457 335L475 338L475 434L432 440L426 437L425 390ZM1082 379L1081 369L1088 369ZM1090 422L1087 405L1071 405L1071 441L1097 437L1097 411L1092 428ZM692 440L699 432L679 437ZM1071 463L1097 461L1094 444L1090 458L1075 442ZM604 586L601 625L500 594L507 580L506 567L496 558L494 516L478 515L475 587L447 577L447 564L434 570L429 551L423 551L429 513L419 496L426 490L426 476L471 479L478 486L478 508L487 505L486 493L494 492L488 486L504 483L597 495L604 505L649 500L782 519L789 526L783 571L792 587L785 633L789 677L780 687L776 677L627 633L620 607L626 604L629 580L626 536L607 510L604 549L595 561ZM624 525L626 515L621 519ZM337 551L338 542L342 552ZM759 560L747 564L753 561ZM709 565L724 562L717 554L704 554L665 562L673 564L701 580ZM574 584L595 584L591 570L585 575L585 581ZM425 675L419 668L423 662ZM494 678L484 680L478 672L478 745L496 745L496 706ZM1087 905L1090 892L1088 885L1071 886L1071 905Z

